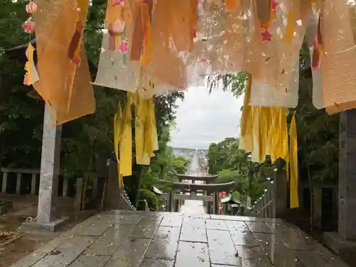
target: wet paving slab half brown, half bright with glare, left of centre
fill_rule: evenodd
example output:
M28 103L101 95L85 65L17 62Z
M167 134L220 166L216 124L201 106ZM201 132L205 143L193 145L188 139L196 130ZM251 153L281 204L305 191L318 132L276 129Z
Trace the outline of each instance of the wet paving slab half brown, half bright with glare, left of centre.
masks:
M179 231L180 229L177 227L159 226L145 257L174 260L177 253Z

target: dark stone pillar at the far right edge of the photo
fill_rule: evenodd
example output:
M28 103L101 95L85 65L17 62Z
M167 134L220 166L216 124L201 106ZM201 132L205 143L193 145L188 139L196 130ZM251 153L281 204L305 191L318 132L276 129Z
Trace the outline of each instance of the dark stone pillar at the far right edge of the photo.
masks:
M356 109L340 113L339 223L341 239L356 241Z

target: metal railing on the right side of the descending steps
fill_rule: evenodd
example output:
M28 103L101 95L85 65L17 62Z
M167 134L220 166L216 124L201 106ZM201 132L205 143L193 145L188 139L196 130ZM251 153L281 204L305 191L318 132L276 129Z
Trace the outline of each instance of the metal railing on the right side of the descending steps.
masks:
M263 195L253 203L252 214L257 217L276 217L276 201L274 199L273 181L268 182Z

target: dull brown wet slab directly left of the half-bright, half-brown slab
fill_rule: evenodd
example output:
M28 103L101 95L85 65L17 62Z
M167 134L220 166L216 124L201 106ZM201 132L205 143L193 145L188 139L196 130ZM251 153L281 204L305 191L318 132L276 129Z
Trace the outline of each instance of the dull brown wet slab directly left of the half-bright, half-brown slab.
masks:
M105 267L140 266L151 241L151 239L125 239Z

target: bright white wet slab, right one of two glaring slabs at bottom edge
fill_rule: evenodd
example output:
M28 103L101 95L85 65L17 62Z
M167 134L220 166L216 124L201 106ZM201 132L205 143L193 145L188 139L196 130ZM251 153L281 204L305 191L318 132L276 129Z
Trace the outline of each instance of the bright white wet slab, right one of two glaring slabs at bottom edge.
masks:
M242 266L241 259L236 257L234 243L229 231L207 229L209 256L211 263L231 266Z

